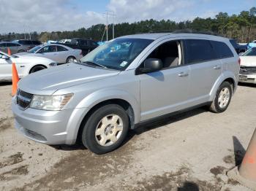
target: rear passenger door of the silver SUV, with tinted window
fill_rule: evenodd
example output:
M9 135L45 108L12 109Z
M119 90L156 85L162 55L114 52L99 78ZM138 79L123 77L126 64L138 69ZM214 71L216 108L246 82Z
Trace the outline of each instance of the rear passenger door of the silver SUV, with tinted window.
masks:
M222 74L222 63L210 41L187 39L186 63L190 66L189 102L203 104L210 98L211 88Z

